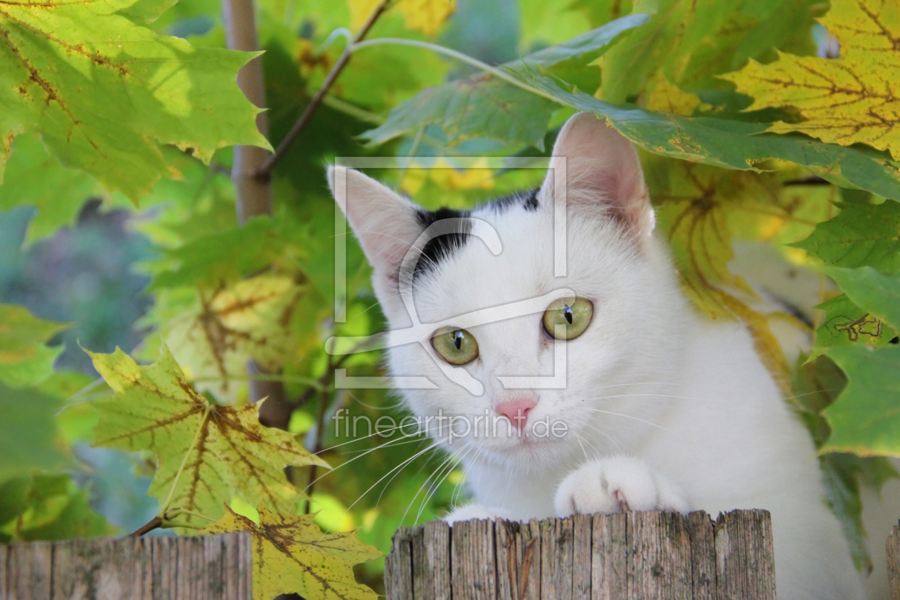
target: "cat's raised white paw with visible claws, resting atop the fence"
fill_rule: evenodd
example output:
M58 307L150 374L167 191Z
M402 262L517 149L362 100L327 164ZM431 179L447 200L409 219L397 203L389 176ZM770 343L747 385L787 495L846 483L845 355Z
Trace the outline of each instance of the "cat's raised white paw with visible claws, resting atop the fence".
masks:
M684 493L636 458L590 461L572 471L556 490L556 515L617 513L623 510L690 510Z

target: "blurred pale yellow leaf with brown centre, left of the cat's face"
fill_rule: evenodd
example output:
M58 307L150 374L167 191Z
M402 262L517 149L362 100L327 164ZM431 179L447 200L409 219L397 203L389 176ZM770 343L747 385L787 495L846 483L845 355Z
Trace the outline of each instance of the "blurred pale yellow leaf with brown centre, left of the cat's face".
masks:
M211 295L197 291L196 307L172 321L166 343L198 389L232 403L248 360L274 372L293 357L288 325L301 292L291 278L274 275L258 275Z

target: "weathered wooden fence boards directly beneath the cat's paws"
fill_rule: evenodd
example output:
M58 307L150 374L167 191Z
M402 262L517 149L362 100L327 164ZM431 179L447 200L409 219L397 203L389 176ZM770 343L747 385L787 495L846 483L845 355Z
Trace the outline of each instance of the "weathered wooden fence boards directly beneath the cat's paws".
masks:
M716 522L653 512L428 523L394 535L384 585L387 600L775 600L771 519L735 510Z

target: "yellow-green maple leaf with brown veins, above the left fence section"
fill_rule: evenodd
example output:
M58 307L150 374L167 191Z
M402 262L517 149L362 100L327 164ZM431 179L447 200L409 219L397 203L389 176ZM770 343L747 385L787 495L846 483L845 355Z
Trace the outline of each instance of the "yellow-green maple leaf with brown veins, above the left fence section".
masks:
M94 445L149 450L158 464L148 494L170 507L219 518L235 493L256 505L287 510L299 496L284 466L328 465L293 435L259 424L259 403L212 404L184 379L164 345L158 363L139 366L128 354L93 354L94 367L116 393L94 403ZM195 523L186 515L187 523Z

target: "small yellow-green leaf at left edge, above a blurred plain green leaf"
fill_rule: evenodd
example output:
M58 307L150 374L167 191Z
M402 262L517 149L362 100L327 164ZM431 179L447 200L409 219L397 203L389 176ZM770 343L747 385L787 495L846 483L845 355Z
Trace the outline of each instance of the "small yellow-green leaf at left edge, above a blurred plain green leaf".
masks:
M62 347L43 343L68 327L34 317L21 306L0 304L0 382L25 387L45 379Z

